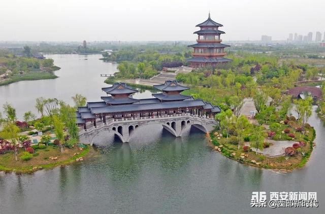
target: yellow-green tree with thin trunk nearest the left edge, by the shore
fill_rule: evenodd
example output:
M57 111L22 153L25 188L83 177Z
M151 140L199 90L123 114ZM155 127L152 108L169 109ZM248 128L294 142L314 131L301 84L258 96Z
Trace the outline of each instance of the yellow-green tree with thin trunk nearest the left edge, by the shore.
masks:
M8 140L14 148L14 158L17 161L17 154L19 149L18 133L20 132L19 127L13 122L5 123L3 130L0 132L0 138Z

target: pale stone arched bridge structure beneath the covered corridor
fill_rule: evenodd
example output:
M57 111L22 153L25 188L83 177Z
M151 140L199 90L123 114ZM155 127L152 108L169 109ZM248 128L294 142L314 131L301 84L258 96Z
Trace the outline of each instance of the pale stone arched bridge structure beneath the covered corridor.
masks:
M164 129L175 137L181 137L186 126L193 125L203 132L211 132L217 122L213 118L192 114L176 114L153 117L112 119L107 123L92 126L90 129L79 132L80 142L92 145L94 138L102 132L114 133L123 143L129 142L139 126L161 124Z

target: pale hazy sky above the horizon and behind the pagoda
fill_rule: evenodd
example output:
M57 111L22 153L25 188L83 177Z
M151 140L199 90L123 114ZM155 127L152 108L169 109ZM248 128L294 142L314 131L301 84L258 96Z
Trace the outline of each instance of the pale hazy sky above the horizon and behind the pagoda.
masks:
M211 18L224 40L325 31L325 0L0 0L0 40L194 40Z

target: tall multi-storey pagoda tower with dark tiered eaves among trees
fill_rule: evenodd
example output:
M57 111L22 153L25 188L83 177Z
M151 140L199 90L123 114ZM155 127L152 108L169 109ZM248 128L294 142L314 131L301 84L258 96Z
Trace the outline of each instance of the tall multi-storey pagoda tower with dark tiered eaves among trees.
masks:
M226 53L223 52L223 49L230 46L221 44L222 39L220 35L225 32L218 28L222 26L222 24L210 18L210 13L206 21L196 26L200 27L200 30L194 32L198 34L198 43L188 46L194 48L192 58L187 60L192 68L200 68L207 65L215 67L218 63L232 61L231 59L224 58Z

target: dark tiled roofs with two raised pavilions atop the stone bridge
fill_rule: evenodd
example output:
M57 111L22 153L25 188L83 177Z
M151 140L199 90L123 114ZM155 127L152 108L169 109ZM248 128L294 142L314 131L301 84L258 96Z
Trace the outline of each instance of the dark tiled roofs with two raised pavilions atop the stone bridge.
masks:
M164 84L154 85L154 88L162 91L162 93L152 94L154 98L149 99L134 99L132 94L138 92L131 87L128 87L125 83L114 83L112 87L102 88L107 95L101 97L103 101L99 102L87 102L84 107L78 107L77 123L79 125L85 125L87 121L93 121L95 123L96 118L106 116L115 118L127 117L127 115L136 114L139 115L151 115L153 113L159 114L169 112L170 110L188 110L201 109L202 112L209 114L220 113L218 106L212 106L211 103L206 103L203 100L195 100L191 96L184 96L180 93L184 90L188 90L188 87L180 85L176 80L168 80Z

